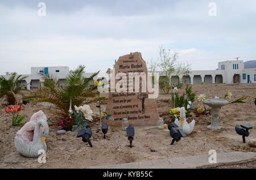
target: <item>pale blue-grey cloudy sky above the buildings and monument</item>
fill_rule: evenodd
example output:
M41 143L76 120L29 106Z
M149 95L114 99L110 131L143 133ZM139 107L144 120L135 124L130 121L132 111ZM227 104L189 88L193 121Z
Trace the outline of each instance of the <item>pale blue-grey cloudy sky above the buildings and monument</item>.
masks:
M0 0L0 74L80 64L105 72L130 52L157 59L160 45L192 70L214 70L237 56L256 59L255 21L255 0Z

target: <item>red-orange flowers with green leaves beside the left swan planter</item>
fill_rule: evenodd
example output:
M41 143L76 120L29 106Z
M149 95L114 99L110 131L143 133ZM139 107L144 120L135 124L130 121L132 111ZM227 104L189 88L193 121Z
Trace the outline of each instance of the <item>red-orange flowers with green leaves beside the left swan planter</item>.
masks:
M10 105L7 106L7 108L5 108L5 113L6 114L12 114L13 118L12 118L12 126L18 126L18 125L22 125L22 122L24 120L24 118L26 118L26 116L22 115L19 116L19 112L20 110L22 110L22 105L19 104L18 106L14 106L14 105Z

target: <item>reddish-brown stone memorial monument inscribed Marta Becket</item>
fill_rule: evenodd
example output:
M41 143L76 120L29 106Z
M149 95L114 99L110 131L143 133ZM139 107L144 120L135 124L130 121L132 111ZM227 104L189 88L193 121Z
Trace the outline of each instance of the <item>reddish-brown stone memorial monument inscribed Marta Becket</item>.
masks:
M156 126L159 118L146 62L141 53L119 57L114 65L106 112L110 114L108 125L121 126L123 118L129 125Z

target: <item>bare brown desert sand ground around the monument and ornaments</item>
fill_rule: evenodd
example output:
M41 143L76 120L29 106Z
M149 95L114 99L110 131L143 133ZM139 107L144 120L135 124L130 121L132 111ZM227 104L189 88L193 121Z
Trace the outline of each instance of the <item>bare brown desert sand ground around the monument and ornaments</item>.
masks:
M204 93L207 98L219 96L223 98L229 90L232 99L242 95L256 97L256 84L202 84L192 85L196 95ZM183 89L179 89L182 93ZM171 95L159 95L156 99L160 117L170 118ZM31 115L38 110L43 110L48 118L49 135L47 143L47 162L39 164L37 158L27 158L21 156L14 147L14 136L19 130L19 126L11 127L11 116L6 115L4 107L0 110L0 168L84 168L86 166L119 164L126 162L138 162L152 159L164 159L171 157L193 156L207 154L210 149L217 152L256 152L256 148L251 148L247 144L256 140L256 106L254 99L248 98L246 104L230 104L221 108L220 122L223 127L218 131L207 129L211 117L201 115L193 119L196 121L195 130L187 138L182 138L175 145L170 145L171 137L168 130L158 130L156 128L135 127L135 147L130 148L125 131L121 127L109 127L107 138L103 139L98 121L98 108L96 104L91 104L94 112L94 122L92 125L93 148L83 143L80 138L76 138L77 131L68 131L65 135L56 135L55 113L56 109L43 104L27 104L20 114L27 115L25 122L29 121ZM196 106L201 104L195 101ZM106 101L103 102L106 106ZM250 136L246 138L246 143L242 143L242 137L234 130L235 126L248 123L254 128L250 131ZM146 147L148 143L150 147ZM151 152L151 150L155 152ZM255 166L254 162L250 162ZM228 168L228 166L227 166ZM255 167L254 167L255 168Z

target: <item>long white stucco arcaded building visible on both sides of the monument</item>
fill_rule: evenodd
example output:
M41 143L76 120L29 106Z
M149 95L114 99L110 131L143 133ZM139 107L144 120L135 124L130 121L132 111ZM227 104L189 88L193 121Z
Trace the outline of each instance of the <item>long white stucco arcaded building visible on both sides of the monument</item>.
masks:
M50 74L59 80L60 87L65 86L65 78L69 74L68 66L56 67L31 67L31 74L24 74L27 76L22 84L24 88L41 89L43 86L43 79L40 73ZM93 73L85 73L85 77L91 76ZM160 73L160 76L163 74ZM4 75L8 78L9 75ZM98 77L94 77L94 80ZM172 83L187 83L187 84L213 84L213 83L256 83L256 68L244 68L243 61L222 61L218 62L217 70L202 70L190 71L188 75L171 75ZM93 84L93 82L92 82Z

